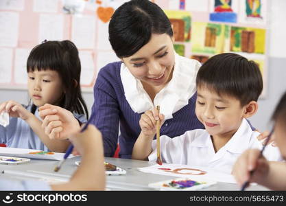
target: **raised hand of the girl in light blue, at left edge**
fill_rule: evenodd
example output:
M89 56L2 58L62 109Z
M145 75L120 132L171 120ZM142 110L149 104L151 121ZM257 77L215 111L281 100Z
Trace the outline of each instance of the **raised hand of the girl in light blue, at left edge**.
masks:
M9 113L10 117L20 117L23 120L27 120L32 115L21 104L12 100L0 104L0 113L2 111Z

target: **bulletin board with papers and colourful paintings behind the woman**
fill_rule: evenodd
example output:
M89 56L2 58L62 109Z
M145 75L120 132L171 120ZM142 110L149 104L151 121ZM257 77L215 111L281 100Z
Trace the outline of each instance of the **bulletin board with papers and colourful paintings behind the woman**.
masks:
M0 89L26 89L31 49L45 39L69 39L80 52L82 90L93 91L99 69L119 60L108 41L108 23L114 10L126 1L1 0ZM222 52L241 54L259 64L265 86L267 0L153 2L171 21L178 54L202 63Z

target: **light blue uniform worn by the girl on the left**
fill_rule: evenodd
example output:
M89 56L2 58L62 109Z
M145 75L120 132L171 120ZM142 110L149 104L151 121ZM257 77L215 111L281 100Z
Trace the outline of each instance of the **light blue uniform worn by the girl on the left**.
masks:
M25 106L31 111L32 105ZM38 109L34 114L40 119ZM80 122L86 122L84 115L73 114ZM25 120L17 117L10 117L10 124L6 127L0 125L0 143L10 148L25 148L34 150L49 151L40 138L34 133Z

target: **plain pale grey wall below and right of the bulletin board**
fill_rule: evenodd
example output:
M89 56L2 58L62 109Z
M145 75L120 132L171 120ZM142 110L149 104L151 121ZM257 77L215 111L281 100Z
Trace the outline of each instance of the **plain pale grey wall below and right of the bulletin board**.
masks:
M267 93L265 98L259 100L259 111L250 118L253 126L258 130L270 129L269 119L276 106L281 94L286 91L286 1L272 0L270 5L270 35L268 39L268 76ZM106 36L106 38L108 38ZM93 93L84 92L84 100L91 112L93 105ZM15 100L21 104L27 104L27 91L0 89L0 102Z

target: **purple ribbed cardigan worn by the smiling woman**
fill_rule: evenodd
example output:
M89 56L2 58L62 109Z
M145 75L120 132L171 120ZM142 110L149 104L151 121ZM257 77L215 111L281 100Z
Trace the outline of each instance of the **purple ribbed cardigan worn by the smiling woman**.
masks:
M119 157L130 159L134 143L141 132L139 119L142 113L135 113L124 95L120 77L121 62L112 62L100 69L94 87L92 124L102 132L104 155L112 157L119 141ZM189 104L173 114L160 130L160 135L176 137L187 130L204 128L195 116L196 93ZM119 135L120 126L120 135ZM119 138L119 139L118 139Z

